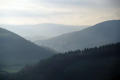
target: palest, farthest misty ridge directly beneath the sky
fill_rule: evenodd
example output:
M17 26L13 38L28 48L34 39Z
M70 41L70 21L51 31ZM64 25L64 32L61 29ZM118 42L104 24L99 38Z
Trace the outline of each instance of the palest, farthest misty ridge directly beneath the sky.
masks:
M1 25L3 28L10 30L27 40L37 41L45 40L64 33L78 31L88 26L71 26L62 24L37 24L37 25Z

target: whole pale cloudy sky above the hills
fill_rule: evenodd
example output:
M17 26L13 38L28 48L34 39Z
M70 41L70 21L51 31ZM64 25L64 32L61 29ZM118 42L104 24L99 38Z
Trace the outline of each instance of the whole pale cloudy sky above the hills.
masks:
M120 0L0 0L0 24L93 25L119 12Z

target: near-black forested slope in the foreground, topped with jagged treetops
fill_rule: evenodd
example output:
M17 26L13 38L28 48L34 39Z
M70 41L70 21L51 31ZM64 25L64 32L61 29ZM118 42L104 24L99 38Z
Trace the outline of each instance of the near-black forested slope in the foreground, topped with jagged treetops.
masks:
M11 79L111 80L120 79L120 44L55 55L27 66Z

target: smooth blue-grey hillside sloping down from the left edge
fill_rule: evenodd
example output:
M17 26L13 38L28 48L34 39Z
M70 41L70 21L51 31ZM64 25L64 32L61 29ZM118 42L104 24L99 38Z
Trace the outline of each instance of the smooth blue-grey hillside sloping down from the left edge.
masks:
M37 46L8 30L0 28L0 67L32 64L53 55L48 48Z

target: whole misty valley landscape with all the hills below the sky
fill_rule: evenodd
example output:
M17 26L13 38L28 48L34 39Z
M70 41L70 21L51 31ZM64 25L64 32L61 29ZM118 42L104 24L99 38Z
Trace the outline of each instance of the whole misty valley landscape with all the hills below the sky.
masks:
M81 27L3 25L0 79L119 80L120 20Z

